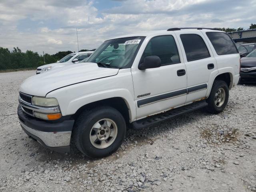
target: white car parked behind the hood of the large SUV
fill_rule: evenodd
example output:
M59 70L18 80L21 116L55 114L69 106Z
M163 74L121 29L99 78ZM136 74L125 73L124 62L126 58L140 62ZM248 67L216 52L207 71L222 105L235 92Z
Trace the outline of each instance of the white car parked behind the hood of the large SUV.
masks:
M64 66L71 65L71 64L79 63L80 61L84 60L85 58L88 58L92 53L93 53L93 51L85 51L85 52L79 52L79 53L75 52L75 53L68 54L61 60L57 61L56 63L46 64L46 65L38 67L36 69L36 74L40 74L40 73L46 72L48 70L52 70L53 68L57 69L57 68L61 68Z

